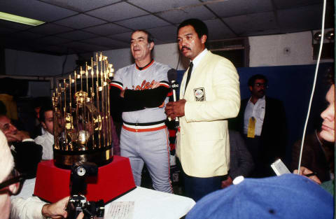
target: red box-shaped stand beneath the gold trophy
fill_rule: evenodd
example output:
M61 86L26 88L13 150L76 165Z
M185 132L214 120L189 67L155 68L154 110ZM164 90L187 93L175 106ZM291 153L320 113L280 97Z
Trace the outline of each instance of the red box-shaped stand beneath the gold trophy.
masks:
M37 168L34 196L45 202L57 202L70 195L71 170L55 167L53 160L40 162ZM113 162L98 168L97 176L86 179L83 194L88 201L103 199L107 204L136 188L130 160L113 156Z

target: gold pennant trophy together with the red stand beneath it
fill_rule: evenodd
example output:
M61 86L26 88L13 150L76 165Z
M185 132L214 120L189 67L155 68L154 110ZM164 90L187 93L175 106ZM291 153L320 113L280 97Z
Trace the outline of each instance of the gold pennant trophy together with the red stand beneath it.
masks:
M130 160L113 155L113 65L102 53L95 56L96 61L74 71L52 93L54 160L40 162L36 173L34 195L47 202L71 195L71 209L83 203L81 209L92 203L103 206L136 188Z

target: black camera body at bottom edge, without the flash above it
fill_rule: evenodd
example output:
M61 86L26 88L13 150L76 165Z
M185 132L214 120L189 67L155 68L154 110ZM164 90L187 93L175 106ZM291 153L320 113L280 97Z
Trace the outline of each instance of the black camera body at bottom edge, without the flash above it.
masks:
M72 195L66 206L68 212L67 218L77 218L80 212L84 213L84 219L103 219L104 218L104 201L88 202L84 195Z

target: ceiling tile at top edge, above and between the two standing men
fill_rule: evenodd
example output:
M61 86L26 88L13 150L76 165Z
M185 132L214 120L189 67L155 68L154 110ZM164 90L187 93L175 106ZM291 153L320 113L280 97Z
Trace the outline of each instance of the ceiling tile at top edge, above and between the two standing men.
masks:
M180 8L200 4L198 0L128 0L128 2L141 8L146 8L146 10L152 13L164 11L168 8Z

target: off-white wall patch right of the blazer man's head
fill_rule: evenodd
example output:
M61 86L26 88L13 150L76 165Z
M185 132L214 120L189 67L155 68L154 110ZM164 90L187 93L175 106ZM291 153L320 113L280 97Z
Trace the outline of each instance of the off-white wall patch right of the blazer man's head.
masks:
M316 64L313 60L311 32L269 36L251 36L250 66L281 66L297 64ZM333 62L323 59L321 62Z

